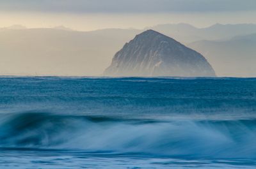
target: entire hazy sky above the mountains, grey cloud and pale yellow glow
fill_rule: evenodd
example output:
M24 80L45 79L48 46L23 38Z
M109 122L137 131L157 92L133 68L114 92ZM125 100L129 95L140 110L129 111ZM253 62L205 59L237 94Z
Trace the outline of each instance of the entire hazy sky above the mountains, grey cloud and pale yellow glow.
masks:
M205 27L256 23L255 16L255 0L0 0L0 27L63 25L87 31L180 22Z

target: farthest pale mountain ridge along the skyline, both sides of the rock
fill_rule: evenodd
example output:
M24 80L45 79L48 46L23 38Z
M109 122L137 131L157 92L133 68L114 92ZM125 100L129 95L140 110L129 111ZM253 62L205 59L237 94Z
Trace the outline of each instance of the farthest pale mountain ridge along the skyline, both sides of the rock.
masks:
M10 27L4 27L1 29L26 29L25 26L14 25ZM52 28L40 28L40 29L60 29L65 31L76 31L65 26L56 26ZM153 29L155 31L166 34L173 37L182 43L188 44L194 41L200 40L228 40L234 36L243 36L244 34L256 33L256 24L214 24L209 27L198 28L191 26L190 24L159 24L157 26L146 27L145 29L99 29L95 31L82 31L88 34L111 34L112 36L127 36L127 34L133 33L135 36L138 33L146 31L147 29ZM79 31L81 32L81 31ZM125 41L128 41L126 39Z

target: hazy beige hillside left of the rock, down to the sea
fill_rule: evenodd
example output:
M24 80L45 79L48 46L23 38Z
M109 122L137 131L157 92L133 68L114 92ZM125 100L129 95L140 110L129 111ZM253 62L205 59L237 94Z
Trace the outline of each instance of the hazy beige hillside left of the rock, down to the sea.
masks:
M1 75L100 75L134 29L1 29Z

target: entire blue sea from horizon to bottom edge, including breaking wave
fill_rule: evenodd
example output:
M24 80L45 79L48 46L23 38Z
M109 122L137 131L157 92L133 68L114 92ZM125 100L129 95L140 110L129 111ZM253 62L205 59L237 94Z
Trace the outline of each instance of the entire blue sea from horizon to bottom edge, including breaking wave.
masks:
M256 78L0 78L0 168L255 168Z

